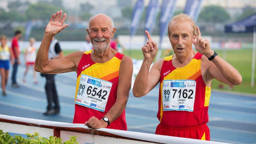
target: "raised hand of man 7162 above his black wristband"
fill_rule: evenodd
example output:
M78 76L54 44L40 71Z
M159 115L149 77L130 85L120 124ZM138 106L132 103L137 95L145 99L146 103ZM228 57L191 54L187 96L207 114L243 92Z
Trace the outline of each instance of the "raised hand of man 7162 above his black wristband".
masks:
M195 45L195 49L200 53L205 55L206 57L210 57L214 54L214 51L211 49L209 40L203 39L201 36L201 32L199 27L196 27L197 38L193 40L193 44Z

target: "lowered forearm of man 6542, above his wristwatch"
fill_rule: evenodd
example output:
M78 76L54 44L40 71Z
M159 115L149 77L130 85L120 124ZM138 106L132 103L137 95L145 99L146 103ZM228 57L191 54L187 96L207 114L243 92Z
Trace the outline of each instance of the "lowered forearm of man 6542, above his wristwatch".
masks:
M124 111L126 104L127 104L127 99L122 99L122 100L117 100L115 104L111 107L111 109L104 115L104 117L109 118L109 122L113 122L116 118L118 118L121 113Z

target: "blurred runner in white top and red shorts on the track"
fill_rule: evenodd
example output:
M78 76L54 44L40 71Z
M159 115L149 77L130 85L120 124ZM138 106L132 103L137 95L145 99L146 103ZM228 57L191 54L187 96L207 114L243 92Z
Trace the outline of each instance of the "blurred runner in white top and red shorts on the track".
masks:
M36 80L36 71L34 70L35 67L35 57L36 57L36 49L33 46L35 42L35 38L30 38L29 39L30 45L26 47L25 49L25 62L26 62L26 70L24 72L23 76L23 82L26 82L26 74L29 71L29 66L33 67L33 82L37 84Z

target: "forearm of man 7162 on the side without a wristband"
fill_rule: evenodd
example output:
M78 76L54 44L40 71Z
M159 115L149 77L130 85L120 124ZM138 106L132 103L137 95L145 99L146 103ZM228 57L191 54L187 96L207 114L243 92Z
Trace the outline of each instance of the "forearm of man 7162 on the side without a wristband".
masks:
M141 69L138 72L138 75L135 79L133 90L132 90L135 97L142 97L148 93L146 89L147 89L147 79L148 79L151 63L152 63L151 61L147 61L145 59L143 60Z

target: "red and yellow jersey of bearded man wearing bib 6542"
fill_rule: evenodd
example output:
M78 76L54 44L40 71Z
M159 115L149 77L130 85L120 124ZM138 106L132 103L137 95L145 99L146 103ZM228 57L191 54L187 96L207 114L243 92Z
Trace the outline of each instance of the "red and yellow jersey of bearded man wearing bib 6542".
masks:
M92 50L84 52L79 62L79 65L77 67L76 94L78 93L79 80L80 80L81 74L94 77L97 79L102 79L104 81L109 81L113 84L109 93L109 97L108 97L104 112L75 104L75 113L74 113L73 123L85 123L92 116L95 116L100 120L104 117L104 115L111 109L111 107L116 102L119 68L120 68L122 57L124 55L117 53L111 60L105 63L95 63L91 60L91 53L92 53ZM76 95L76 98L77 98L77 95ZM113 122L111 122L111 124L106 128L127 130L127 124L125 120L125 110L122 112L122 114L118 118L116 118Z

